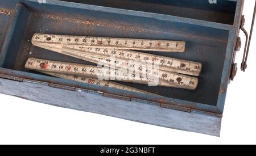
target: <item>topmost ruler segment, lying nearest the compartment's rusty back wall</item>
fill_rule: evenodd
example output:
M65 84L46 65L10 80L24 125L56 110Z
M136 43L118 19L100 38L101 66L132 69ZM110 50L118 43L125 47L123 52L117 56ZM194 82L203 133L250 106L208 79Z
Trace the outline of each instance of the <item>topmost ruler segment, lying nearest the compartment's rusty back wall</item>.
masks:
M149 50L159 52L184 52L184 41L125 39L113 37L70 36L35 33L32 43L43 42L79 47L97 47L109 49Z

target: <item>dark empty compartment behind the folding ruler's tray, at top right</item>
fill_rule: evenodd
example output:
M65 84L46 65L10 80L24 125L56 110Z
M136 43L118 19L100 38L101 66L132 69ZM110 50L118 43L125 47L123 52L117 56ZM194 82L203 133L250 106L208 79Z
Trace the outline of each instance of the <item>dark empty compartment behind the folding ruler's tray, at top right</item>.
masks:
M74 2L73 0L64 0ZM210 0L211 1L211 0ZM155 12L158 14L200 19L210 22L233 25L236 2L219 0L76 0L89 5L100 5L119 9ZM214 2L214 1L212 1Z

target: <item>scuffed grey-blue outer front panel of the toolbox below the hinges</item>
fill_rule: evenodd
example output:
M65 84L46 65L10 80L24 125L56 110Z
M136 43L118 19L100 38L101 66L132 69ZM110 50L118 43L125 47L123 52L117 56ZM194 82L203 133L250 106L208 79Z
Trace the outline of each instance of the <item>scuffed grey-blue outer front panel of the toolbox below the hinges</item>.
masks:
M104 97L102 94L52 88L46 83L17 82L2 78L0 78L0 93L58 107L220 136L221 118L161 108L154 103L130 102Z

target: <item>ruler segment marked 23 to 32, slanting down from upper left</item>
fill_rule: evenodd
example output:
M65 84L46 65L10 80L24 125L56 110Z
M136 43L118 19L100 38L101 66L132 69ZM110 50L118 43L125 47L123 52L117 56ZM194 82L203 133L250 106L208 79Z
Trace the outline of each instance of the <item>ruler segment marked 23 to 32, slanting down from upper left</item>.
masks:
M180 74L199 76L202 65L199 62L180 60L177 58L157 56L154 54L134 52L131 50L76 47L71 45L34 43L37 47L52 50L61 54L76 57L81 60L91 61L95 64L98 61L110 64L116 68L133 68L139 65L158 65L159 70L171 71Z

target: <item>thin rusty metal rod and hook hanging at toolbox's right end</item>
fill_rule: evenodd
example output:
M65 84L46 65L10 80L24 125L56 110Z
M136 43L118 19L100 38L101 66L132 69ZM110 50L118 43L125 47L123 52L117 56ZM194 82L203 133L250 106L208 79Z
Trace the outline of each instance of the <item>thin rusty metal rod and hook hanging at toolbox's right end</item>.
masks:
M255 2L255 7L254 7L254 12L253 12L253 20L251 22L251 30L250 30L250 36L248 38L248 33L246 29L243 27L245 26L245 16L242 16L242 23L241 23L241 30L245 33L246 41L245 41L245 49L243 52L243 60L241 64L241 70L245 71L247 68L247 58L248 58L248 53L250 49L250 43L251 43L251 36L253 35L253 27L254 27L254 20L255 20L255 13L256 13L256 2Z

